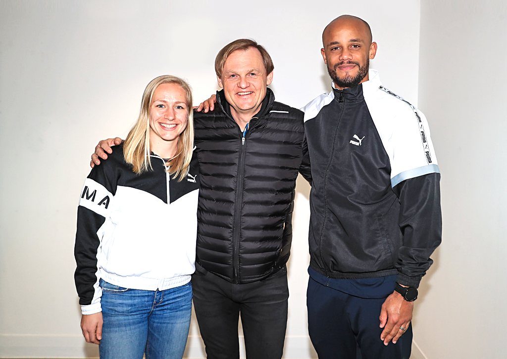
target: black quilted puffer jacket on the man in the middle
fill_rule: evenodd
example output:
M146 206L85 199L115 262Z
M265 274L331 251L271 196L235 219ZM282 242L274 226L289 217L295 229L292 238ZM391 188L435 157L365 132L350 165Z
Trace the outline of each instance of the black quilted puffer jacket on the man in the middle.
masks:
M268 88L243 137L220 91L214 111L195 113L194 125L197 262L231 283L266 278L289 257L298 171L310 176L303 113L275 102Z

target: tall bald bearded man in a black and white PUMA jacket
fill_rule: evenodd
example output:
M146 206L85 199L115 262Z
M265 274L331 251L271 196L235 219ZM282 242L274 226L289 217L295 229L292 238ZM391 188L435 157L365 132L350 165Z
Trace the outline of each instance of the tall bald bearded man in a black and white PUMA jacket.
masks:
M369 70L367 22L340 16L322 42L332 91L304 108L310 338L320 359L409 358L417 287L442 236L428 123Z

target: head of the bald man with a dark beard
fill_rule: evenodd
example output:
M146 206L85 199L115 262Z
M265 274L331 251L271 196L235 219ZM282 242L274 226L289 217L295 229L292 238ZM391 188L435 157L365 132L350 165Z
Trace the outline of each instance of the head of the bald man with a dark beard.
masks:
M363 20L340 16L325 28L322 43L320 52L337 88L354 87L368 80L377 43L372 42L370 28Z

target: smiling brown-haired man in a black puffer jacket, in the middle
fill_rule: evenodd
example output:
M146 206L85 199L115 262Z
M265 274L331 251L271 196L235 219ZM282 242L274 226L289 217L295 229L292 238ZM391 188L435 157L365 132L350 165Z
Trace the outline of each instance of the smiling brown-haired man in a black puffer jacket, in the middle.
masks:
M200 163L194 305L208 358L278 359L296 178L309 179L303 113L274 100L273 63L238 39L216 56L216 106L195 113Z

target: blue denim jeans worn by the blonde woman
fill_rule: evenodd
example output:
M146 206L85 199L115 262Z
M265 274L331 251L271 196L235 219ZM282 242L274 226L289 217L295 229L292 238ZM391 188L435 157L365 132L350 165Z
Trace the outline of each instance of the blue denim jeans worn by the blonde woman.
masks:
M181 359L192 312L192 285L163 291L128 289L100 280L104 359Z

